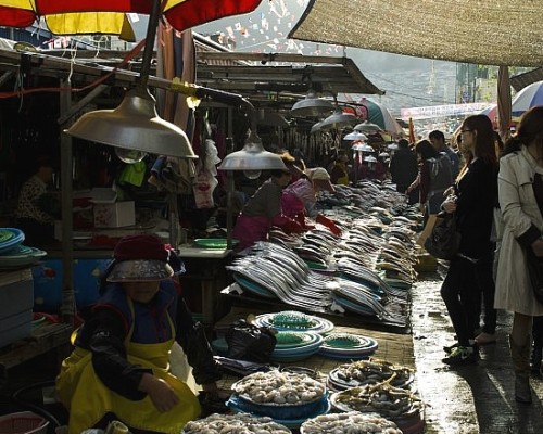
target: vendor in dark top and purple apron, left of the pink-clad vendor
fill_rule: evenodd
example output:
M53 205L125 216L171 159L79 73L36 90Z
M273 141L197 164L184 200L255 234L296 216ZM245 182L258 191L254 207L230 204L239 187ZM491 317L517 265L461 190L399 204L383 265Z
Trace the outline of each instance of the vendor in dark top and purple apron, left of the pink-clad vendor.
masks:
M249 199L236 220L232 234L239 240L238 251L252 246L256 241L267 240L273 226L280 227L288 233L303 230L298 221L285 216L281 210L282 189L291 181L291 171L272 170L270 175Z

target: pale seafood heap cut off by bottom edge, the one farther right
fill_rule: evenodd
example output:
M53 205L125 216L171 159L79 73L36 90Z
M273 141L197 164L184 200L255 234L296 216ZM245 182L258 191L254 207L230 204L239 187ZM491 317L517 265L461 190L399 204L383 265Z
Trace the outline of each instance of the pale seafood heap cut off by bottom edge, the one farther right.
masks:
M306 420L300 426L300 434L402 434L397 425L376 413L350 411L321 414Z

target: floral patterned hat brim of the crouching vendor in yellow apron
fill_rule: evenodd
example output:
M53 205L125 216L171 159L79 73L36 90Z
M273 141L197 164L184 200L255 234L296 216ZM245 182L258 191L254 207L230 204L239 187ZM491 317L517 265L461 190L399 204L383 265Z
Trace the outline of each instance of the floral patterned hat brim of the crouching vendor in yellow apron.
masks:
M174 269L162 260L137 259L115 264L108 282L150 282L168 279Z

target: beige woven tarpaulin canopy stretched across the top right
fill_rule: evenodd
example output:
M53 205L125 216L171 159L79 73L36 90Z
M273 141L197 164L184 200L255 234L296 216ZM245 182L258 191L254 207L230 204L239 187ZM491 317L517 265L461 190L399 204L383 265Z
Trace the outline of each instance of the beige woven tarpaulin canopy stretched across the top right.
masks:
M484 65L543 65L543 0L310 0L289 38Z

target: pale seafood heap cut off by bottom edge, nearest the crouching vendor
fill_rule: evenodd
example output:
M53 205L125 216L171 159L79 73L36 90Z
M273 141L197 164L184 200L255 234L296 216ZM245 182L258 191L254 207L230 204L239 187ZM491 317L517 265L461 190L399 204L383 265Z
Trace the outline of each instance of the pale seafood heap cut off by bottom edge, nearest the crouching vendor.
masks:
M188 422L181 434L291 434L291 431L274 422L272 418L248 413L211 414L207 418Z

